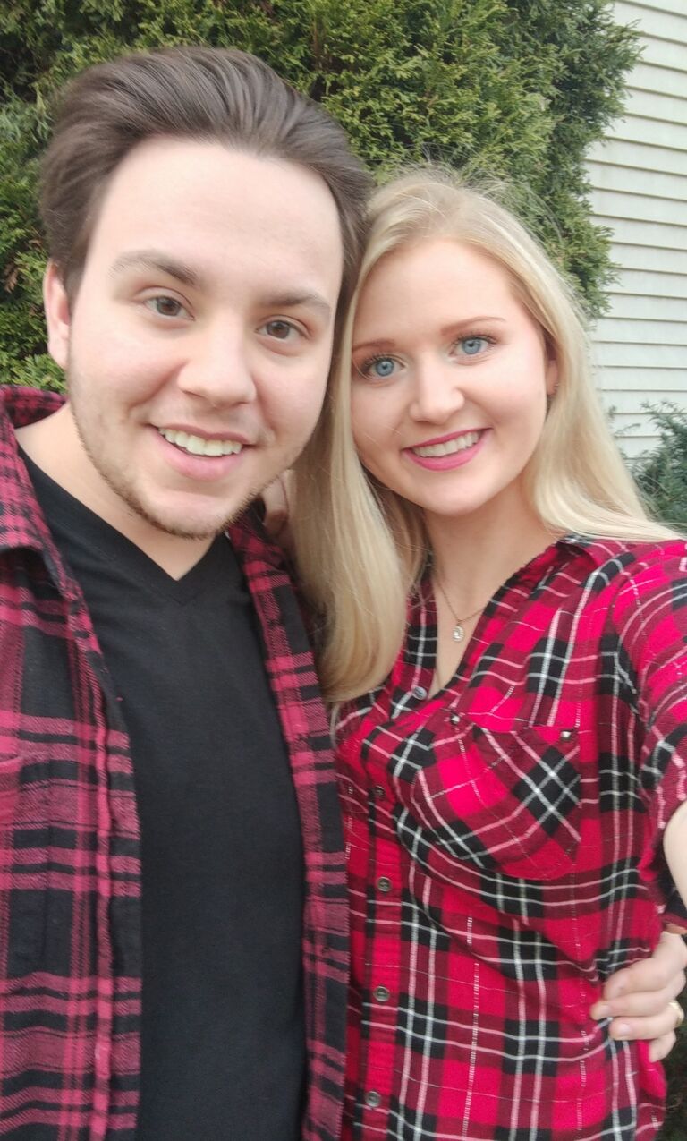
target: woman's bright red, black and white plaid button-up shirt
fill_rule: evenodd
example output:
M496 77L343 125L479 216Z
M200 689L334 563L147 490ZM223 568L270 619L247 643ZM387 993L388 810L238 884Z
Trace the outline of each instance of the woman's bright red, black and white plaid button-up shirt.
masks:
M664 1081L588 1015L684 922L687 545L553 544L428 698L426 581L388 682L342 710L353 986L344 1136L648 1141Z

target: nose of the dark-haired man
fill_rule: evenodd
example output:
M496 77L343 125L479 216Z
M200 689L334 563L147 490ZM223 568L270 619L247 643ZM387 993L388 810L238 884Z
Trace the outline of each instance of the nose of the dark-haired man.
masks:
M216 406L253 400L257 390L243 330L226 323L199 330L178 383L184 393Z

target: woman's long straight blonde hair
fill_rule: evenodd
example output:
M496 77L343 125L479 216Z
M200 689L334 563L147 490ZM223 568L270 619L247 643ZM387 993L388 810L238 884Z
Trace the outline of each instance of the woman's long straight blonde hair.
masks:
M542 523L560 534L628 541L673 534L647 518L611 435L573 291L493 191L434 168L410 171L375 193L370 227L328 400L297 466L297 563L317 616L320 677L332 702L373 689L389 672L404 637L406 598L428 555L420 510L363 469L350 423L357 302L372 268L402 246L434 237L474 246L503 267L543 330L558 385L526 472Z

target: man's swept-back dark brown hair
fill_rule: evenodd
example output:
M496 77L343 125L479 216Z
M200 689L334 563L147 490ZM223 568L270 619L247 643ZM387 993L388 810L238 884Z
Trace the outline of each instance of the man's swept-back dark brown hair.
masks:
M346 304L370 179L345 131L254 56L195 47L97 64L64 91L42 165L41 213L49 254L71 297L110 177L137 144L160 136L224 143L320 175L339 211Z

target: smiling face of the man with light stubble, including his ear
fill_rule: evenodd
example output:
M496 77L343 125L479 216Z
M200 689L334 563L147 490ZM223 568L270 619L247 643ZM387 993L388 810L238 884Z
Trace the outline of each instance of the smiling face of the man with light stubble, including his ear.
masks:
M138 533L142 519L224 529L315 426L341 268L336 204L312 172L216 143L136 147L71 307L46 276L75 428L67 483L124 534L131 511Z

